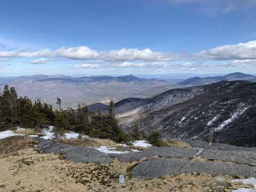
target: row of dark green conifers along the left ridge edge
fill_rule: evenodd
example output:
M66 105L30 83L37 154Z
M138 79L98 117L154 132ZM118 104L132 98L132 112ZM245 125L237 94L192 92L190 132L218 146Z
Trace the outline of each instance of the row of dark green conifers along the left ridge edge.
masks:
M118 124L114 113L114 102L109 102L107 114L88 110L86 105L78 105L77 109L71 107L61 108L61 98L57 97L59 109L41 102L39 99L32 102L28 97L18 97L15 87L4 86L0 93L0 131L20 126L23 128L42 129L49 125L54 126L54 136L63 136L65 131L79 132L92 138L112 139L118 143L128 143L133 140L148 139L158 145L160 132L147 135L135 124L131 131L125 133ZM157 139L155 138L157 136Z

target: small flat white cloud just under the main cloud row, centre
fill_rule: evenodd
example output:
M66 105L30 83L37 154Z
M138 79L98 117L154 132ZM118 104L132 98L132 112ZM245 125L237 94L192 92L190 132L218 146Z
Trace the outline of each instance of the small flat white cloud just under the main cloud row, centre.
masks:
M143 68L157 68L157 67L167 67L169 64L167 64L164 61L161 62L143 62L143 63L131 63L125 61L124 63L121 64L112 64L110 65L111 67L121 67L121 68L126 68L126 67L143 67Z

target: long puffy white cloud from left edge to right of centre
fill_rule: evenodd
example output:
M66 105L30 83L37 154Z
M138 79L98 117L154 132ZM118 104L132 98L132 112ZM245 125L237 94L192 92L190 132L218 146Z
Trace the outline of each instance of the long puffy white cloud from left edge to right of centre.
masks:
M77 60L105 60L105 61L174 61L176 58L170 53L153 52L150 49L120 49L97 52L87 46L60 48L55 51L43 49L36 52L28 52L23 49L0 50L0 57L60 57Z

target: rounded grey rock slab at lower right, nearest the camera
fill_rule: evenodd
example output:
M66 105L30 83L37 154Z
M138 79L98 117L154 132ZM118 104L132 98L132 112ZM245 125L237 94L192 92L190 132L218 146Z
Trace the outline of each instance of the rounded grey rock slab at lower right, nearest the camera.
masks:
M131 170L133 177L142 179L193 172L208 173L212 175L256 177L256 167L222 162L204 162L166 158L154 158L143 161Z

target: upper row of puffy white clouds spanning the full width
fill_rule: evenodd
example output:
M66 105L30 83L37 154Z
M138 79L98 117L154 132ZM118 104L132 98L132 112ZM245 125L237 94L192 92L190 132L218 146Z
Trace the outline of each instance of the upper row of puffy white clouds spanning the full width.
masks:
M167 61L200 61L200 60L253 60L256 59L256 41L239 43L235 45L223 45L208 50L202 50L194 54L173 54L171 52L154 52L151 49L119 49L98 52L87 46L60 48L57 50L42 49L31 52L25 49L17 50L0 50L0 58L12 57L46 57L46 58L62 58L72 60L94 60L107 62L128 62L143 61L140 65L150 65L151 62L167 62ZM149 62L150 61L150 62ZM36 62L45 62L41 59ZM159 63L154 64L158 66ZM125 65L136 65L125 63ZM163 65L163 63L161 63ZM135 67L136 67L135 66ZM152 65L153 66L153 65ZM153 66L153 67L154 67Z

